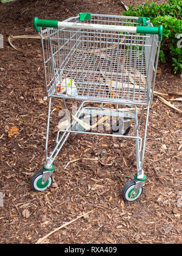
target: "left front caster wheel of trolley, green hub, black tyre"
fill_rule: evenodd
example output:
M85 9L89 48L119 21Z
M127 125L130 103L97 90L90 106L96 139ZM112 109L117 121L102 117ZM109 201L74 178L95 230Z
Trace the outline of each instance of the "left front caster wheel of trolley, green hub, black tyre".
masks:
M38 171L36 172L31 179L31 183L32 183L32 187L33 190L35 191L44 191L47 188L50 187L50 185L52 184L52 177L50 176L49 179L45 182L44 185L42 185L42 175L43 175L43 171Z

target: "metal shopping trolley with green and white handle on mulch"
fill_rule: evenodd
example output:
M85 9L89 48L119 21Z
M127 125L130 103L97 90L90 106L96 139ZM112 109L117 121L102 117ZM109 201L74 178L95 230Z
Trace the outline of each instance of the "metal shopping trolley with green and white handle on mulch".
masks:
M153 27L145 17L91 13L79 13L62 22L35 17L33 25L42 41L49 97L46 160L32 177L33 189L42 191L52 184L53 162L70 133L132 138L136 143L136 174L121 194L124 200L134 201L143 192L146 179L147 122L163 27ZM66 110L67 99L81 103L71 121L66 120L66 127L58 126L55 148L49 152L53 98L61 98ZM96 124L115 118L111 132L91 129L90 120L96 115L102 117ZM141 135L142 118L145 124ZM129 135L131 126L133 135Z

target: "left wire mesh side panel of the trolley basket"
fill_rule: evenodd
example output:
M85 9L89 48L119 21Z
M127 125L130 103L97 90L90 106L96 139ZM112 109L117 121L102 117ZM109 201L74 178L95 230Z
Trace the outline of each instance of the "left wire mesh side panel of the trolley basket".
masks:
M66 21L78 22L78 17ZM56 94L56 84L62 79L67 66L76 54L76 42L80 42L76 29L41 29L44 57L45 89L49 96ZM72 77L72 76L71 76Z

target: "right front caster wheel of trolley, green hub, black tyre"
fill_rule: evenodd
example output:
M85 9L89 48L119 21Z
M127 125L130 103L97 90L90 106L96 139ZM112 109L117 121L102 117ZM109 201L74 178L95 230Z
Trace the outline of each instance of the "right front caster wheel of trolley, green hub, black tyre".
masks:
M135 180L130 180L130 182L124 185L123 190L121 191L121 195L123 196L124 201L131 202L136 200L143 193L143 187L141 187L135 196L133 196L133 190L135 188Z

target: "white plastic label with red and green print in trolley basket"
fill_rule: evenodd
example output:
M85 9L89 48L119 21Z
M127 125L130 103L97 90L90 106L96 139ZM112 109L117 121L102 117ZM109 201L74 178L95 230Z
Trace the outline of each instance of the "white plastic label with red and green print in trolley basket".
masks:
M66 93L68 96L77 95L75 81L70 78L62 79L61 82L56 84L56 91L58 94Z

